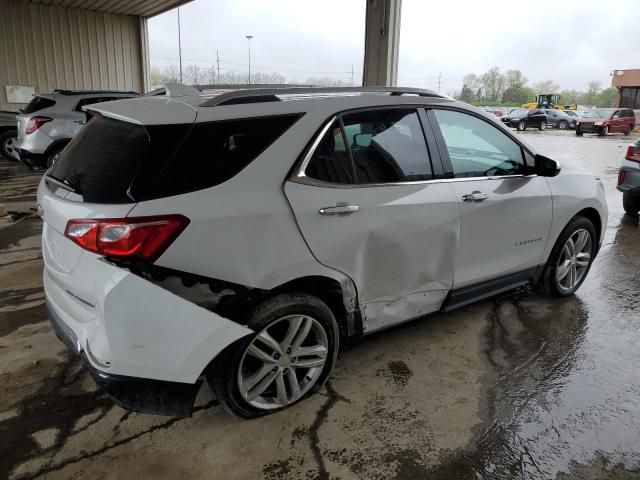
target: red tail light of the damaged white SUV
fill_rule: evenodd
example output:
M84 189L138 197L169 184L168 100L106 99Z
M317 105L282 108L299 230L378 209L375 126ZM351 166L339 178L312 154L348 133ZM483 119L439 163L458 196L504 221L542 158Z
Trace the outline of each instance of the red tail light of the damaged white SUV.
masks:
M188 224L182 215L69 220L64 235L90 252L152 262Z

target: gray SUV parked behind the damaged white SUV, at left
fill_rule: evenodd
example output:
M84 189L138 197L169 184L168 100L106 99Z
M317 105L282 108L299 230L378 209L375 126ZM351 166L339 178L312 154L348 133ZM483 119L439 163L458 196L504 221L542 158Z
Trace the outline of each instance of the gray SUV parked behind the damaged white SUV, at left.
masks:
M54 90L35 95L17 117L20 160L29 167L50 167L89 120L82 107L137 96L137 92L112 90Z

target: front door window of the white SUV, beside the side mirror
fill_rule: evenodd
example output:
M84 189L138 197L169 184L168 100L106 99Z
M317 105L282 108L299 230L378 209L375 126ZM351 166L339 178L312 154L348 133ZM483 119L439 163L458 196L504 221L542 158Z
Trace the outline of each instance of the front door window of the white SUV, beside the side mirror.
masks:
M516 175L526 171L522 149L498 128L466 113L433 112L455 177Z

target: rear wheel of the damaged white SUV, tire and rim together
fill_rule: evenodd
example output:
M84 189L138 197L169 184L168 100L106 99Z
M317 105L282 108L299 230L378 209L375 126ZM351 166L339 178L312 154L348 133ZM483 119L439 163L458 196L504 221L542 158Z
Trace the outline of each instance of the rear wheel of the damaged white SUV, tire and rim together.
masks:
M286 340L296 319L301 317L297 332L304 333L306 330L307 334L297 351L311 346L305 345L310 343L316 346L316 351L321 352L306 355L305 360L289 354L291 348L287 349ZM267 415L298 403L320 389L333 369L339 347L338 326L324 302L304 293L284 293L254 308L247 324L256 333L228 347L206 374L218 400L223 401L231 412L243 418ZM276 340L277 343L270 344L275 348L258 338L263 332ZM294 335L289 344L295 348L298 341ZM260 359L255 353L249 353L249 349L253 352L257 349L257 353L261 354ZM278 349L282 350L278 352ZM323 363L321 366L291 367L293 362L300 364L314 360ZM292 376L296 378L298 392L293 389ZM254 377L253 380L251 377ZM248 388L246 396L243 395L241 384L249 385L252 382L253 386ZM282 386L282 390L278 385ZM260 388L261 393L257 394ZM250 398L252 394L254 397Z

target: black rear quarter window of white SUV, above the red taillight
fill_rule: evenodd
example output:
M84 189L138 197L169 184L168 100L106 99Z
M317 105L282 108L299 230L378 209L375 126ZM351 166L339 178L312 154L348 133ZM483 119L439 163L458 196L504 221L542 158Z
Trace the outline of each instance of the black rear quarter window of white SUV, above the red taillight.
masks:
M300 117L296 114L194 124L171 161L160 170L145 199L194 192L229 180Z

